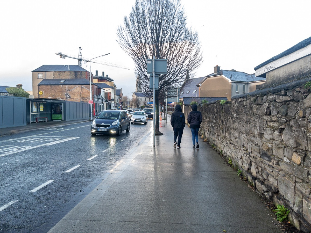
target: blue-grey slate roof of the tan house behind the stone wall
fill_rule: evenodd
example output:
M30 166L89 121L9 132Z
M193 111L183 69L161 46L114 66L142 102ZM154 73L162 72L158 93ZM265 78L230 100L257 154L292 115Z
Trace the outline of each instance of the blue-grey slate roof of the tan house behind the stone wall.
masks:
M234 82L249 83L249 82L265 81L266 80L266 78L255 77L254 74L248 74L248 73L241 72L241 71L228 71L228 70L220 70L219 72L217 72L217 74L212 73L210 75L207 75L206 78L212 77L212 76L217 76L217 75L224 75L226 78L228 78Z

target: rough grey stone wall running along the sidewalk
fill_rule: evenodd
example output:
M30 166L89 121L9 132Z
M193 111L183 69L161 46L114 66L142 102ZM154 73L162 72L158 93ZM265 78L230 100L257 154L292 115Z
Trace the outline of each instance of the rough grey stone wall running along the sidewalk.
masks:
M198 107L200 134L258 193L290 209L290 222L310 232L311 94L309 79L254 91L224 105ZM187 109L188 108L188 109ZM185 107L184 113L190 106Z

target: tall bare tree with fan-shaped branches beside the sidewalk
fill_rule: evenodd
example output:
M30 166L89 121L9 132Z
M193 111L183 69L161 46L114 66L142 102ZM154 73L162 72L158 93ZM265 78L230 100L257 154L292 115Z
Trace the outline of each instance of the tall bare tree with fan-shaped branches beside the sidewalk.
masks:
M117 42L135 62L135 75L142 92L152 98L147 59L167 59L167 74L159 75L156 105L156 134L159 131L159 100L169 89L177 89L202 64L198 34L187 28L179 0L136 0L124 25L117 30Z

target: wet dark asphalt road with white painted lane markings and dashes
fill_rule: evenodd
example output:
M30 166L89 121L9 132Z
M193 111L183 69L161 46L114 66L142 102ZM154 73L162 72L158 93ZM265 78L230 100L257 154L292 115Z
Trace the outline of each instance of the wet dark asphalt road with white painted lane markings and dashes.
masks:
M153 121L120 136L90 122L7 135L0 141L0 232L47 232L150 135Z

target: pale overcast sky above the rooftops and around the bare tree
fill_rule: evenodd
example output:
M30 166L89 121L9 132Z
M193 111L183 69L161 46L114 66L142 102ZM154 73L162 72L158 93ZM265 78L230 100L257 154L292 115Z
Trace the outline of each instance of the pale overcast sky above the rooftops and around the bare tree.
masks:
M91 63L114 79L123 95L135 91L134 63L116 42L135 0L2 2L0 85L32 90L31 71L42 65L78 65L62 52L129 70ZM195 77L220 69L254 73L254 67L311 36L309 0L181 0L188 26L197 30L203 64ZM93 60L92 60L93 61ZM87 66L86 66L87 65ZM83 68L90 70L89 63ZM130 94L129 94L130 93Z

